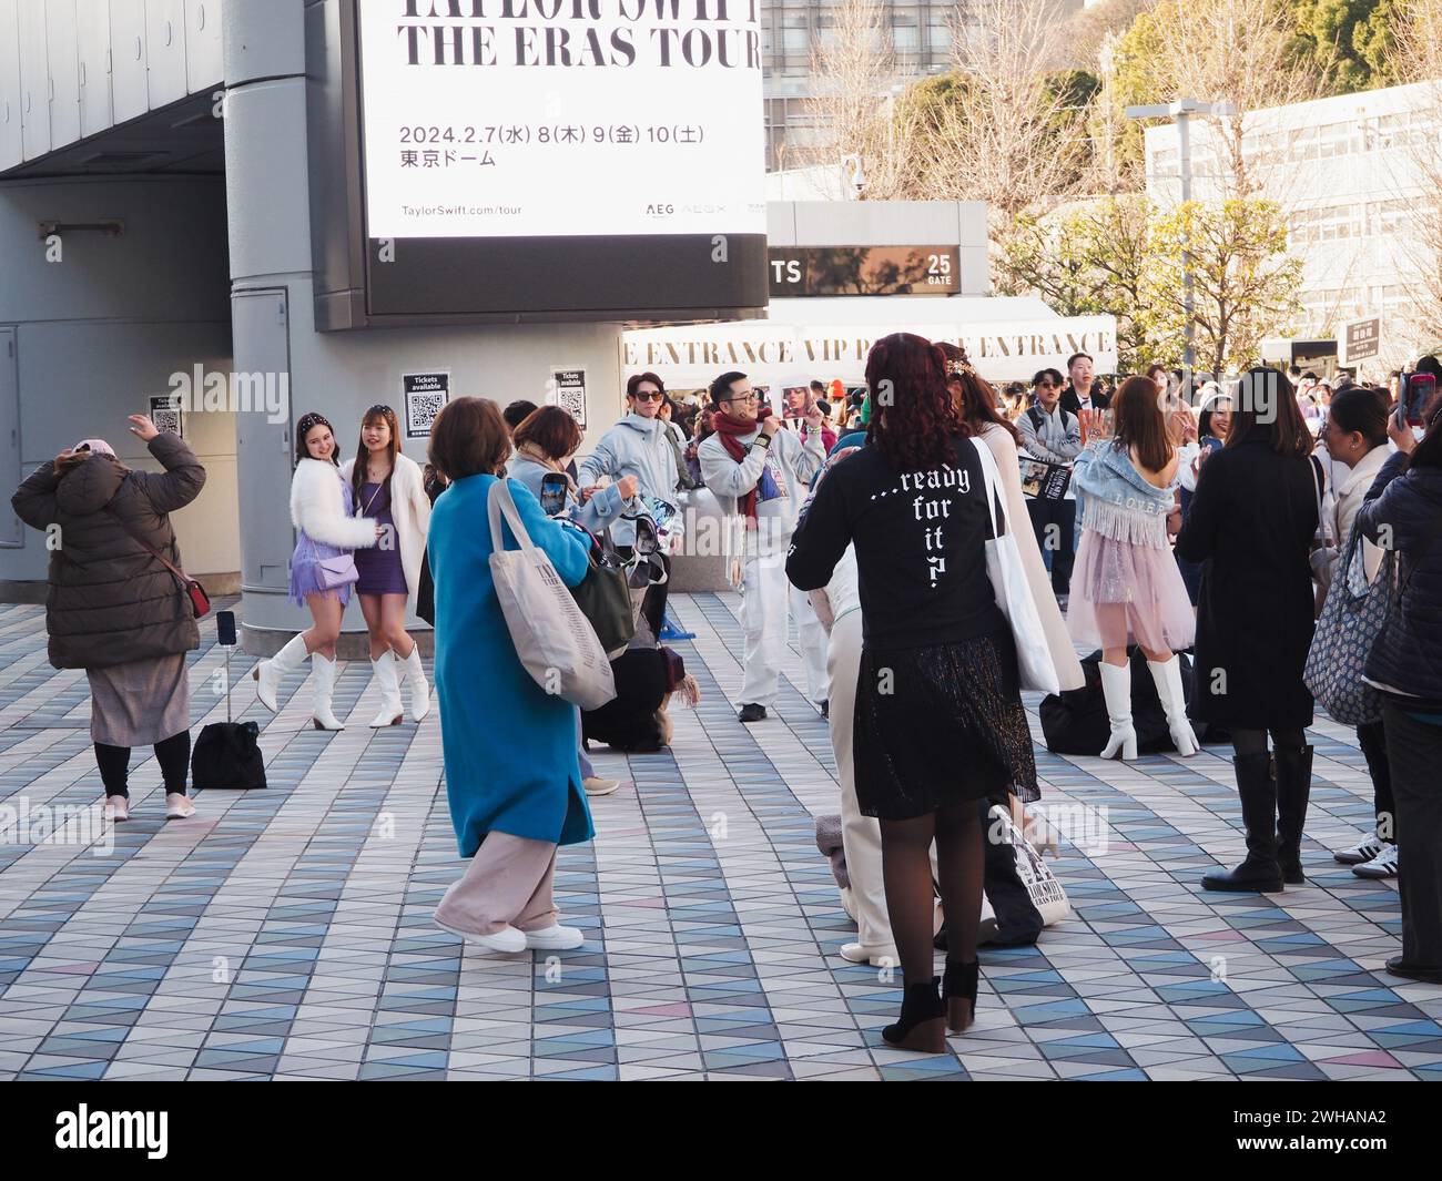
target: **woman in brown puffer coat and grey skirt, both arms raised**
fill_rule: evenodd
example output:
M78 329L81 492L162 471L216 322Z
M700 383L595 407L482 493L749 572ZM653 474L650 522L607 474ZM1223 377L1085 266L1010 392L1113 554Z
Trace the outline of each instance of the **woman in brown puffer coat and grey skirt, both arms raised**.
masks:
M130 415L130 433L163 473L125 467L108 443L87 438L36 469L10 505L33 529L56 526L63 542L50 551L45 630L50 663L85 669L89 681L105 815L130 819L130 748L147 746L164 780L166 819L183 820L195 815L185 655L200 646L200 629L164 562L182 565L169 513L200 495L205 469L143 414Z

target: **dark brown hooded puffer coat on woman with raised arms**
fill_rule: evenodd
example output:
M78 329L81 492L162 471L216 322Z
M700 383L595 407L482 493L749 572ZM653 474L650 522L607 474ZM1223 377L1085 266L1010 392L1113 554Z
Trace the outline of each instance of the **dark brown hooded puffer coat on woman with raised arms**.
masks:
M59 526L45 609L58 669L128 665L200 645L185 588L121 522L179 567L167 513L200 493L205 469L172 431L150 440L150 454L163 473L101 454L59 474L45 463L10 499L26 525Z

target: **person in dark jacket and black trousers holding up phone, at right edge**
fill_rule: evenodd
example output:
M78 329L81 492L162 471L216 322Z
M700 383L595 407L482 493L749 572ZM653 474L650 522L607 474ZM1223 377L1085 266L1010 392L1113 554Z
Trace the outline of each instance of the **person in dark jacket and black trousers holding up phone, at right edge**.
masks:
M1396 549L1402 584L1366 666L1381 694L1397 806L1402 955L1387 960L1387 970L1442 983L1442 402L1433 401L1428 423L1417 443L1389 415L1399 454L1383 464L1357 528Z

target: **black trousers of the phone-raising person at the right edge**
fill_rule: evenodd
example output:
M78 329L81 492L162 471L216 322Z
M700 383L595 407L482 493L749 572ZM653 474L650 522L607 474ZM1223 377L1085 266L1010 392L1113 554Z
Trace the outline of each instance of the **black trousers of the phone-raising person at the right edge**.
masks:
M1442 725L1409 718L1390 701L1381 721L1397 803L1402 957L1442 969Z

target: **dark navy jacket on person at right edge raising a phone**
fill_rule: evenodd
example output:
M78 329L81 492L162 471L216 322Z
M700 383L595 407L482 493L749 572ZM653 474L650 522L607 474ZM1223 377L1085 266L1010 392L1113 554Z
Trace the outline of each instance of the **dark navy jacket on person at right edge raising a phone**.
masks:
M1371 646L1366 673L1405 694L1442 701L1442 469L1393 456L1377 473L1357 528L1400 555L1402 601Z

